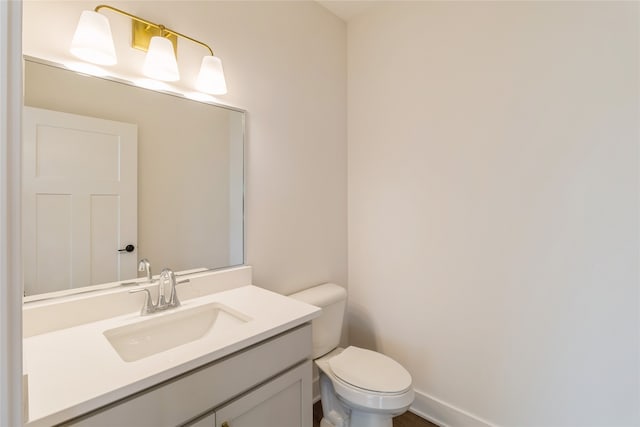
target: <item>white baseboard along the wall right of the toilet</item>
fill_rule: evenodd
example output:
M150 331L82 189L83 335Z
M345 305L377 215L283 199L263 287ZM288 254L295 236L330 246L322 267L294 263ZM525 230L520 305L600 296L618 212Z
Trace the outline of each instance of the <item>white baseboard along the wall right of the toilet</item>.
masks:
M409 411L440 427L496 427L495 424L416 390Z

